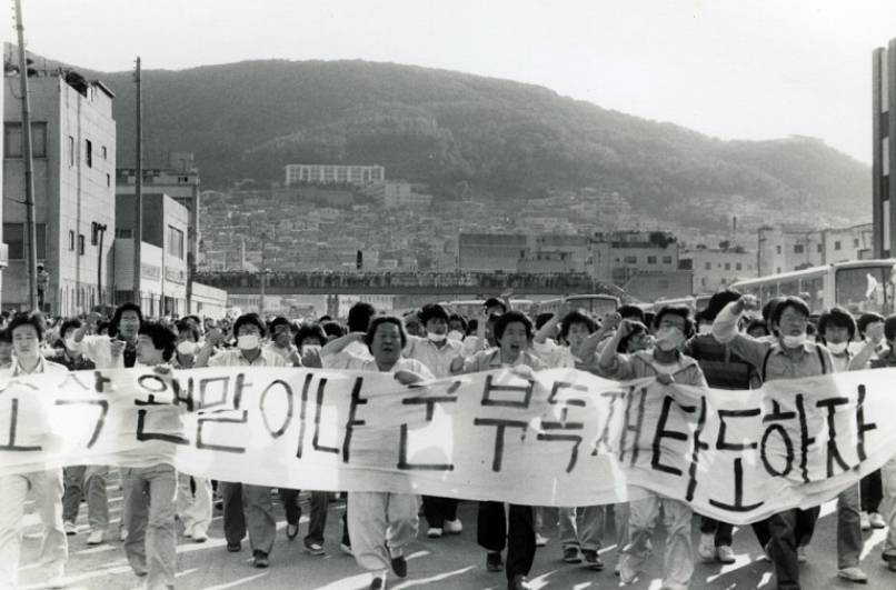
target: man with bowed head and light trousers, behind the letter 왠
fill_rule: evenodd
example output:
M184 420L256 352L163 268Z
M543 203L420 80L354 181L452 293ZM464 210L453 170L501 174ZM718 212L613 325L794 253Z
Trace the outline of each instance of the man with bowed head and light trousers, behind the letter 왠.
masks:
M170 373L170 361L177 347L177 336L158 322L145 322L137 337L137 362L142 367ZM147 414L151 431L171 434L182 433L180 407L153 406ZM165 441L145 441L141 462L148 467L125 467L122 476L129 493L125 510L125 553L133 572L146 577L148 590L173 589L177 570L177 514L178 472L175 469L175 451Z

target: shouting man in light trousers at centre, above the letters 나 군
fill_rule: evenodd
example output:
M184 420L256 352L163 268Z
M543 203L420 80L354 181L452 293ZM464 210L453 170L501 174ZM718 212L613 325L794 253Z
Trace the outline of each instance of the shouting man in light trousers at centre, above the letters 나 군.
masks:
M345 367L355 371L390 372L395 379L410 386L432 379L424 363L401 357L408 336L400 319L394 316L374 318L362 338L358 332L345 337L364 342L369 357L346 351L346 346L332 348L322 356L345 354ZM342 342L341 344L345 344ZM408 564L405 548L417 537L419 517L417 497L391 492L349 492L348 522L355 560L368 571L376 572L371 590L386 588L387 570L405 578Z

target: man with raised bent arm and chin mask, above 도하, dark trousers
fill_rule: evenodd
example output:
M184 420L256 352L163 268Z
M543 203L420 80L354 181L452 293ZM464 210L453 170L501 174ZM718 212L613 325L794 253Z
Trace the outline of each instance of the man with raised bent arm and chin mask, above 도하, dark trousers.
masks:
M769 326L776 334L775 341L757 340L737 331L740 314L757 307L756 298L744 296L723 309L713 323L713 336L719 342L728 343L734 352L753 364L760 373L763 382L776 379L798 379L834 372L834 363L827 348L809 342L806 328L809 322L809 308L798 297L786 297L771 311ZM840 502L845 504L845 502ZM799 562L805 561L805 547L812 539L819 508L807 510L792 509L778 512L766 521L766 534L760 534L761 526L754 527L759 542L775 564L775 577L779 589L799 588ZM846 517L846 513L843 514ZM858 527L856 513L855 527ZM845 518L838 518L844 527L838 534L838 546L843 539L853 536L853 526ZM862 531L859 530L859 536ZM865 583L868 577L853 563L852 551L838 547L837 576L852 582Z

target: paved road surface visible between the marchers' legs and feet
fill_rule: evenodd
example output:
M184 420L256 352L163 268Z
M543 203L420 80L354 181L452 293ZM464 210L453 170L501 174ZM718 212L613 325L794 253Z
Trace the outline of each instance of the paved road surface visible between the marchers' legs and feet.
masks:
M117 484L111 484L110 511L112 524L117 529L121 509L121 493ZM327 554L312 557L302 551L301 534L305 533L307 506L303 506L302 532L295 541L288 541L286 522L278 523L278 539L271 554L271 567L257 570L251 566L248 542L243 542L240 553L228 553L221 531L220 512L216 518L206 543L193 543L181 539L178 546L178 588L222 590L235 589L321 589L356 590L367 588L369 576L355 563L355 560L339 550L339 527L344 502L330 504L327 522ZM278 508L278 513L282 513ZM833 504L823 509L823 518L809 547L809 562L802 569L804 588L849 588L854 584L836 578L836 539ZM139 587L139 580L131 572L120 542L98 547L87 546L86 507L82 506L78 522L81 532L69 537L70 560L68 583L72 589L129 590ZM466 530L457 537L430 540L425 530L408 552L409 576L405 580L390 580L390 589L470 589L485 590L506 588L502 573L489 573L485 569L485 553L476 546L476 504L461 503L460 518ZM421 527L425 527L421 519ZM41 588L41 570L34 563L38 551L40 526L33 514L29 514L23 543L22 583L26 588ZM695 547L697 522L695 521ZM660 527L661 528L661 527ZM613 574L616 562L615 547L607 547L601 553L607 568L603 572L590 572L581 566L566 564L560 560L560 547L556 528L548 527L545 534L550 539L547 547L538 550L531 578L539 589L598 589L619 586ZM606 531L608 542L614 538L611 524ZM661 532L660 532L661 538ZM859 588L869 590L892 590L896 588L896 572L889 572L880 561L880 544L884 532L866 533L863 568L870 576L870 583ZM656 590L660 586L659 561L663 542L654 543L657 557L653 568L641 580L627 588ZM691 588L764 588L774 589L770 564L760 561L760 551L749 528L735 534L737 562L733 566L698 564Z

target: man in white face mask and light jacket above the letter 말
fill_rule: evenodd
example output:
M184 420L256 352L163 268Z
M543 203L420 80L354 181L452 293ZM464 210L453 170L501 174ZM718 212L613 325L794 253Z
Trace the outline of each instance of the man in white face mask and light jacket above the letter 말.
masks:
M279 354L262 349L261 339L266 333L267 327L257 313L240 316L233 323L237 348L221 351L209 359L215 344L223 339L220 330L212 330L206 334L206 344L197 356L196 367L286 367ZM277 534L271 489L267 486L243 486L239 482L223 481L221 487L227 550L237 552L242 549L242 538L246 537L248 524L253 564L256 568L267 568L268 556Z

